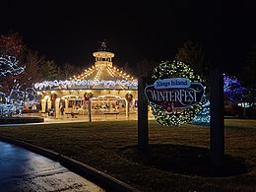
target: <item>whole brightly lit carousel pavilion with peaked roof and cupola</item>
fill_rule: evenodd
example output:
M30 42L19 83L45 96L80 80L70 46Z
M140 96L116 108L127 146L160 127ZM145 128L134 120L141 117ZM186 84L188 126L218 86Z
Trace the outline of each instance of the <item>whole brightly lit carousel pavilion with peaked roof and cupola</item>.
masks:
M65 113L92 115L137 112L138 81L114 67L114 53L105 42L93 53L95 65L69 80L35 83L40 95L41 112L54 111L55 117Z

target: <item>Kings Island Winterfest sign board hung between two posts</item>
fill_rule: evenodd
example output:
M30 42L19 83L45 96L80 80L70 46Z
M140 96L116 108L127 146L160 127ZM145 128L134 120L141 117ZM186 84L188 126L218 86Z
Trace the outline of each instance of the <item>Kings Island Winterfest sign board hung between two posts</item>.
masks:
M157 80L145 88L150 102L170 112L176 108L186 108L199 103L205 93L201 83L191 83L185 78Z

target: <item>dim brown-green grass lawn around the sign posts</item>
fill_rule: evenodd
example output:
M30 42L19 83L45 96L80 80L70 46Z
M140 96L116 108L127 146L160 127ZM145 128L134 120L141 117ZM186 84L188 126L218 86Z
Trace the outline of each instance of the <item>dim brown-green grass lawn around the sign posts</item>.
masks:
M225 119L225 166L209 165L208 126L150 121L150 148L137 149L137 121L0 127L0 135L40 146L145 191L256 191L256 120Z

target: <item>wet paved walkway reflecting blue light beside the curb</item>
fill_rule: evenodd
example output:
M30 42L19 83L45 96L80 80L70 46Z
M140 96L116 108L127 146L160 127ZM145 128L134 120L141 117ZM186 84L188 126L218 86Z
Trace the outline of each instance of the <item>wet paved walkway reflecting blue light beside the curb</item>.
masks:
M71 172L59 162L0 142L0 192L92 191L102 188Z

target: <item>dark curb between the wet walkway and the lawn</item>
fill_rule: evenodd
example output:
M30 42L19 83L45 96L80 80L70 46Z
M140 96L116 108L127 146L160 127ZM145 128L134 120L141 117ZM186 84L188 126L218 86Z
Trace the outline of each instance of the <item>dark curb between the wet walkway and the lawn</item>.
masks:
M102 187L106 191L139 192L138 189L135 189L134 187L78 160L73 160L58 153L55 153L53 151L34 146L32 144L20 140L15 140L9 137L0 136L0 141L21 146L35 154L41 155L50 160L59 161L59 163L64 167L69 168L75 173L96 183L98 186Z

